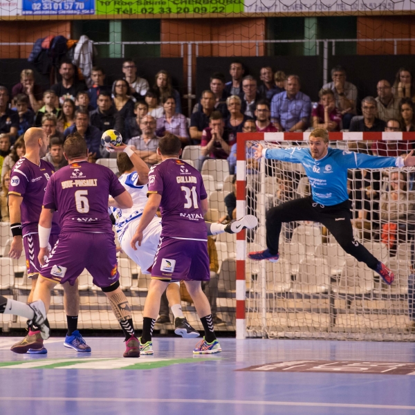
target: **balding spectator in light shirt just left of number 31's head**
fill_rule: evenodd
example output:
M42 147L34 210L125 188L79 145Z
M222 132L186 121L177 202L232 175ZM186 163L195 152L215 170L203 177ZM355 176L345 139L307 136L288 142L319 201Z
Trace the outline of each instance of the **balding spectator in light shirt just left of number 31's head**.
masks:
M156 136L156 119L150 115L140 120L141 136L133 137L129 140L128 145L136 150L138 156L147 163L147 165L155 165L160 162L157 155L158 137Z

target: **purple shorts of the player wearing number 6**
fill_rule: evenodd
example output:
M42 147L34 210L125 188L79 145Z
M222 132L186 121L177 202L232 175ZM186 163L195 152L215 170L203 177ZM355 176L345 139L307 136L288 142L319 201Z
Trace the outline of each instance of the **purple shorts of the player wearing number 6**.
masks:
M60 284L68 281L73 286L84 268L92 275L93 284L100 288L118 281L120 274L113 234L60 234L40 275Z

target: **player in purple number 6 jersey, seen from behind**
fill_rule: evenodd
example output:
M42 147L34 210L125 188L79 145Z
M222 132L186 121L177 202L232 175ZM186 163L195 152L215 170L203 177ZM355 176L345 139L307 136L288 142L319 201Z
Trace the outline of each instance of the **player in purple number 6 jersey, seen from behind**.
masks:
M116 243L107 208L110 195L122 209L131 208L133 201L109 168L88 163L88 149L80 134L73 133L66 138L64 156L69 164L50 178L40 214L42 270L33 299L41 299L47 312L53 287L58 282L73 286L86 268L93 283L109 298L120 322L127 346L124 358L138 358L139 343L134 336L131 308L118 281ZM56 210L61 232L49 255L48 239Z

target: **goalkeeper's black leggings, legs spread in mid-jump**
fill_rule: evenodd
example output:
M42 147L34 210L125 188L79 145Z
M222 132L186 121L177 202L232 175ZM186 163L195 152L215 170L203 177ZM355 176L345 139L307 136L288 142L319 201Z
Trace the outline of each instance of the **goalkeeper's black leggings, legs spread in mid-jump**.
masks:
M378 259L356 241L351 227L349 201L338 205L323 206L311 197L295 199L268 210L266 214L266 245L272 254L278 252L279 233L283 222L313 221L322 223L335 237L340 246L358 261L365 262L372 270Z

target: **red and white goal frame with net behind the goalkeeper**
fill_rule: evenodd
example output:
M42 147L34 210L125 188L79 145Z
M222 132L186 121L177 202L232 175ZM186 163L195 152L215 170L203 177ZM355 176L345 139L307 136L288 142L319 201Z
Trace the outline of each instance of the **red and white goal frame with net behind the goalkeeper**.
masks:
M373 270L345 254L324 227L313 223L298 222L283 227L281 259L277 263L247 259L249 250L266 248L266 209L310 193L302 165L264 158L252 163L249 148L258 143L269 148L307 146L309 135L309 132L237 135L237 217L250 210L259 220L255 232L237 234L237 338L414 341L413 168L371 170L369 176L360 170L349 171L351 199L360 197L353 199L351 208L353 233L394 270L396 280L392 286L385 286ZM384 142L389 147L403 146L409 152L415 133L336 132L329 133L329 140L331 147L350 151L367 152L374 142ZM389 197L394 193L392 190L396 195ZM396 197L406 201L404 219L394 216ZM385 223L396 225L386 237Z

